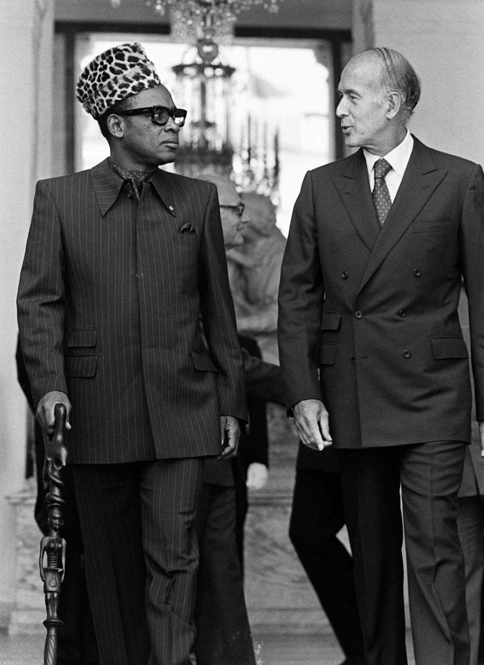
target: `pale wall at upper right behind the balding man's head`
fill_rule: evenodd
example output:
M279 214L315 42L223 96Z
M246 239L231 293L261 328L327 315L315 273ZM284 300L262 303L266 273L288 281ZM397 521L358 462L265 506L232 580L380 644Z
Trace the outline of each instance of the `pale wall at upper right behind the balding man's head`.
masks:
M422 79L412 132L432 148L482 164L484 3L374 0L372 13L374 45L401 51Z

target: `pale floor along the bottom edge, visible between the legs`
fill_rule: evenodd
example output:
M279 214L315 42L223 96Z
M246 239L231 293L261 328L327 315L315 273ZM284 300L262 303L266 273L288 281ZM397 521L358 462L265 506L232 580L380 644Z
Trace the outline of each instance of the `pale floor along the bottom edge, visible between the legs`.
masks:
M7 636L0 632L0 665L42 665L44 636ZM415 665L410 636L409 665ZM335 638L325 635L266 635L255 638L257 665L339 665Z

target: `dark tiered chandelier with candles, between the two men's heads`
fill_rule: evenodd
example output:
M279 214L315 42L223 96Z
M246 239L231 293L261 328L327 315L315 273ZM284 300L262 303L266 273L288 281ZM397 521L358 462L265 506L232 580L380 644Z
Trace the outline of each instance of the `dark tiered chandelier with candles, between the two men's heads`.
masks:
M185 51L172 67L175 96L188 110L175 168L196 178L203 170L230 176L243 192L279 201L279 129L247 107L250 84L233 81L235 68L200 48Z

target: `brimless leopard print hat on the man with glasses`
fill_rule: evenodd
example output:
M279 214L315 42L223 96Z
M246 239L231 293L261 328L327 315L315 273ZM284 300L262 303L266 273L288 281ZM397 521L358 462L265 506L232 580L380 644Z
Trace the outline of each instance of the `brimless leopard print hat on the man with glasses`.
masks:
M152 61L138 42L120 44L100 53L84 69L76 98L94 118L129 94L160 85Z

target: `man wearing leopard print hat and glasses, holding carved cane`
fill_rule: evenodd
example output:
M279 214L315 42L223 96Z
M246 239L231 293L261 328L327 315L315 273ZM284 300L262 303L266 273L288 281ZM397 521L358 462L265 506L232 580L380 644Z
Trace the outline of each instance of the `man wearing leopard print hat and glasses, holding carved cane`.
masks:
M37 184L21 347L45 435L68 410L100 662L189 665L203 459L245 419L217 192L158 168L186 112L140 44L96 57L77 98L110 157Z

